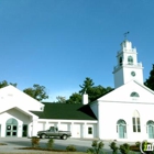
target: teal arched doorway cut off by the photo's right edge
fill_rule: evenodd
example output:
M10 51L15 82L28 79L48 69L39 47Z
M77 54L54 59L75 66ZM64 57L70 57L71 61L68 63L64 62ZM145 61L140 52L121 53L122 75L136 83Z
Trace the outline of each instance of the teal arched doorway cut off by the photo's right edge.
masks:
M146 122L146 129L147 129L146 131L148 133L148 138L154 139L154 121L148 120Z

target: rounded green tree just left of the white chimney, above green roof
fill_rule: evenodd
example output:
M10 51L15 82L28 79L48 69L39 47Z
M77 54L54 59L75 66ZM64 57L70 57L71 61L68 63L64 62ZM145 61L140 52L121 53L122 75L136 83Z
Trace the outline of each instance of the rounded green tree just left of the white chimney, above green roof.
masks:
M66 103L81 103L81 95L80 94L73 94L68 100L66 100Z

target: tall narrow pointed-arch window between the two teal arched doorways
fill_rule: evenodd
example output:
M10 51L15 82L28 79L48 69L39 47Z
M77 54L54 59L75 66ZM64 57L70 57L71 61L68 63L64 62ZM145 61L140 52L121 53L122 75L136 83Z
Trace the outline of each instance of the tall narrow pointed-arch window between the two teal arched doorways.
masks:
M140 114L135 110L132 118L133 132L141 132Z

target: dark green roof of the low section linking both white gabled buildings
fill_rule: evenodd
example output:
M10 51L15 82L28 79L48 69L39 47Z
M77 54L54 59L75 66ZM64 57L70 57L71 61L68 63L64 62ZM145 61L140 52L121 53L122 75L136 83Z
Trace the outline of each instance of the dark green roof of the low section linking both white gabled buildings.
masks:
M40 119L97 120L88 105L43 102L44 111L31 111Z

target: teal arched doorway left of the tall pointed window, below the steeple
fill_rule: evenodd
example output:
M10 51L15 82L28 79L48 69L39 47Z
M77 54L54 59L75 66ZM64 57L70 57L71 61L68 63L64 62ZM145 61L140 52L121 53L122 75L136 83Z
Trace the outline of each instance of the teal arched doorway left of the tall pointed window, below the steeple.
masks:
M127 138L127 122L123 119L120 119L117 122L117 133L120 139Z

